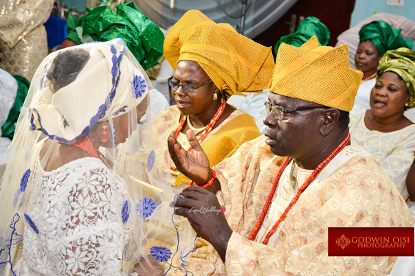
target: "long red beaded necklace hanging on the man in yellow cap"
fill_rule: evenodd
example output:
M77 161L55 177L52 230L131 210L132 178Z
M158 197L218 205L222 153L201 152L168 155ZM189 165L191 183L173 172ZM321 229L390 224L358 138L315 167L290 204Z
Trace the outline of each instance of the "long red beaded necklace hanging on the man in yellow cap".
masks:
M269 238L276 231L278 225L280 225L280 223L282 222L282 220L284 220L285 216L287 216L287 213L289 212L289 210L291 209L291 207L293 207L293 205L297 202L297 200L300 197L300 195L302 194L302 192L304 192L304 190L307 187L309 187L310 183L312 183L314 181L314 179L317 177L317 175L319 174L319 172L321 172L326 167L326 165L341 150L343 150L343 148L348 144L349 141L350 141L350 134L347 135L346 139L344 139L339 144L339 146L337 146L337 148L332 153L330 153L330 155L326 159L324 159L324 161L322 161L322 163L319 163L319 165L317 165L317 168L315 168L315 170L311 173L311 175L309 176L309 178L306 179L306 181L304 182L304 184L298 189L297 194L294 196L293 200L291 200L291 203L285 209L284 213L282 213L282 215L280 216L280 218L277 220L276 224L267 233L267 236L265 237L265 240L262 242L262 244L267 244L268 243ZM254 230L252 231L251 235L249 235L249 240L255 240L256 235L258 235L258 232L259 232L260 228L262 227L262 223L264 222L265 216L267 216L267 213L268 213L268 210L269 210L269 206L271 205L271 200L272 200L274 194L276 193L276 189L277 189L277 186L278 186L278 182L280 181L280 178L282 176L282 172L284 172L285 168L287 168L287 165L289 165L289 163L291 162L291 160L293 160L293 159L287 157L287 159L285 159L285 161L284 161L284 164L282 164L282 167L278 171L278 174L276 176L276 180L273 181L273 184L272 184L272 187L271 187L271 192L269 192L269 195L268 195L268 198L267 198L267 202L265 203L264 207L262 208L262 213L261 213L261 215L260 215L260 217L258 219L258 222L256 222L256 225L255 225Z

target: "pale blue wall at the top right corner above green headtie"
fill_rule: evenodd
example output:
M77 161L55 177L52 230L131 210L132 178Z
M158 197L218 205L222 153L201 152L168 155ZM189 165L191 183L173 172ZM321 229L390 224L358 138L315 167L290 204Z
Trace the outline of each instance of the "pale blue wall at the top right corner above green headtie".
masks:
M388 12L405 16L411 21L415 21L415 0L405 0L403 8L386 5L386 0L356 0L355 10L352 12L350 27L355 27L357 23L366 19L374 12Z

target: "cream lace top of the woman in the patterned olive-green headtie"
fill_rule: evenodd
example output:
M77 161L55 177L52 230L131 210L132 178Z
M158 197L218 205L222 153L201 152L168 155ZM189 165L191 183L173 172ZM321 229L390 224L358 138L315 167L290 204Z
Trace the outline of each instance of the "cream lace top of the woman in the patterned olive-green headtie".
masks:
M406 176L415 158L415 124L391 133L369 130L365 125L366 110L350 112L350 133L381 164L404 200L409 198Z

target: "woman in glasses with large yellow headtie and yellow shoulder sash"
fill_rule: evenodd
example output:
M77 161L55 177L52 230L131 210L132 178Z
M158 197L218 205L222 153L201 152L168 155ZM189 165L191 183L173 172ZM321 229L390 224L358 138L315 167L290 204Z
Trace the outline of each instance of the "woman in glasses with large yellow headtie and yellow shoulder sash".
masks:
M190 150L186 131L193 130L212 164L231 156L260 133L253 117L226 100L238 91L265 89L274 62L271 47L238 34L231 25L214 23L199 10L186 12L172 27L164 42L164 55L175 69L168 82L177 105L153 122L158 137L156 159L165 161L177 186L189 179L179 174L170 159L168 135L175 131L183 148Z

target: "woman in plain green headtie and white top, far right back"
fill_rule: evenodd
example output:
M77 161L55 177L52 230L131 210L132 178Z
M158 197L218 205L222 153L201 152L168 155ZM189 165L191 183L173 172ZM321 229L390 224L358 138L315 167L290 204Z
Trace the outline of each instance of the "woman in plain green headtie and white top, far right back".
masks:
M360 43L355 56L356 68L363 72L363 80L355 97L353 109L370 109L370 91L376 83L376 72L386 51L406 47L412 49L412 41L401 36L401 30L383 21L372 21L361 27Z

